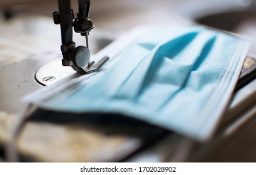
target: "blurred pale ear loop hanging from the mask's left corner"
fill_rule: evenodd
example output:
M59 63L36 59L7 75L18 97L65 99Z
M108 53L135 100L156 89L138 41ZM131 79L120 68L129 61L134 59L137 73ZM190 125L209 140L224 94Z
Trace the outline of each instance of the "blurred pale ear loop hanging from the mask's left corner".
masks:
M6 160L9 163L19 162L17 144L19 134L21 133L26 120L29 116L36 111L36 106L34 104L29 104L28 107L21 113L18 117L18 121L14 124L10 132L10 141L6 144Z

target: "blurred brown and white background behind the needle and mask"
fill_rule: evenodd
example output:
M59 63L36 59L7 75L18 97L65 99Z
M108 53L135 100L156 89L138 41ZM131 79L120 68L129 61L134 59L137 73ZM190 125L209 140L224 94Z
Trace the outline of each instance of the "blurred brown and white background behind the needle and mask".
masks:
M105 32L96 34L101 39L105 37L115 39L122 32L141 24L200 22L251 36L249 38L253 37L255 40L255 2L254 0L92 0L90 18L95 23L96 29ZM71 0L71 3L76 12L78 1ZM50 18L53 11L58 11L58 1L0 0L0 11L3 20L38 15ZM33 23L36 24L36 20ZM3 22L0 24L4 25ZM94 52L96 51L98 49Z

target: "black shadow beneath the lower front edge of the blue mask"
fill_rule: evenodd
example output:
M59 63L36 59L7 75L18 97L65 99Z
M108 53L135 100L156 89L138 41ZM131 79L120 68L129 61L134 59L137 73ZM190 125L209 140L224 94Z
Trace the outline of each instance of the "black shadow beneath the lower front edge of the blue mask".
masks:
M141 139L152 139L168 133L165 129L158 128L151 124L144 123L137 119L129 118L121 114L100 114L100 113L57 113L38 109L29 118L32 122L47 122L59 125L69 125L76 128L86 128L101 131L106 135L125 134L140 137Z

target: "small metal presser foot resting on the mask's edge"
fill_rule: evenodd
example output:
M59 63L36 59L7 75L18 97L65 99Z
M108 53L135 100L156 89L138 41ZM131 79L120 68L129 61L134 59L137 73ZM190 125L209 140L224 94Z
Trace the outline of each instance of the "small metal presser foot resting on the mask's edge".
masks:
M98 71L105 63L108 61L109 57L105 56L103 57L98 63L95 64L93 61L92 63L89 63L86 68L79 68L76 65L72 65L71 67L74 69L74 71L81 73L81 74L91 74L96 71Z

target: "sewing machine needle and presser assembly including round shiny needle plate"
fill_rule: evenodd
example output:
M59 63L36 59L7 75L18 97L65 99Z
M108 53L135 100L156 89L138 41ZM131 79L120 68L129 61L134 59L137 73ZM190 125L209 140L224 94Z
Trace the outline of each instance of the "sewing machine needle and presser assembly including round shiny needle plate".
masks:
M35 78L38 83L43 85L49 85L75 72L80 74L93 73L98 71L109 59L108 56L105 56L98 63L90 61L91 53L88 36L95 27L89 19L90 0L78 0L78 12L75 18L70 0L58 0L58 6L59 11L53 12L53 21L54 24L60 24L61 28L61 53L64 67L61 66L59 60L51 61L41 67L36 72ZM73 30L85 37L85 46L76 46L73 41ZM60 76L63 73L65 76Z

